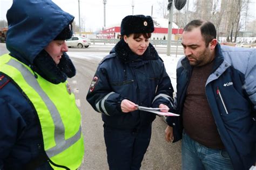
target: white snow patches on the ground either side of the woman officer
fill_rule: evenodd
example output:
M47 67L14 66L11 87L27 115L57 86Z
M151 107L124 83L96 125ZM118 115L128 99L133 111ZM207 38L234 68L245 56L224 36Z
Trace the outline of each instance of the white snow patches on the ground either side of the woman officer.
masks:
M80 58L80 59L87 59L87 60L95 60L97 59L103 59L104 56L106 56L108 53L81 53L81 52L68 52L68 55L74 58ZM164 65L167 74L171 78L172 86L174 91L176 91L176 67L177 62L183 55L170 55L167 56L166 54L159 54L161 59L164 60Z

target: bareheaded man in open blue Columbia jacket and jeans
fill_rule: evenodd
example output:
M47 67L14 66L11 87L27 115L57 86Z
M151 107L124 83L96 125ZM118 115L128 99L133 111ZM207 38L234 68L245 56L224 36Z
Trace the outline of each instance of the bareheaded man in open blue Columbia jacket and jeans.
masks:
M249 169L255 163L256 50L220 46L212 23L184 28L177 98L167 141L182 141L183 169Z

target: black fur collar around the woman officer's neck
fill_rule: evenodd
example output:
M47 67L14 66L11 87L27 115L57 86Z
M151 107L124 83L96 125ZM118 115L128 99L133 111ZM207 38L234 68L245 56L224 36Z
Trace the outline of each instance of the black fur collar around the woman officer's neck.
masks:
M149 44L143 55L134 54L130 47L126 44L124 39L121 39L116 46L114 46L114 52L117 57L123 62L130 62L137 59L142 60L158 60L159 55L152 44Z

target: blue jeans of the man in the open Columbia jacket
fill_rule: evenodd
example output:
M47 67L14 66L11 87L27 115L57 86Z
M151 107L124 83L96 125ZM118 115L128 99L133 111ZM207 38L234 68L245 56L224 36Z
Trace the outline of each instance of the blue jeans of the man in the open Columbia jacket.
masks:
M182 169L233 169L226 150L208 148L191 139L183 132L181 146Z

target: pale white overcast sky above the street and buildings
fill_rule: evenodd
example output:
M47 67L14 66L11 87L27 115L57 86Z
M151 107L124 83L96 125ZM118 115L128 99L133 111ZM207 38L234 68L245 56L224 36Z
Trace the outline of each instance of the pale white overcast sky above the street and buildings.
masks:
M19 0L23 1L23 0ZM52 0L60 6L64 11L75 16L76 25L78 22L78 0ZM160 17L158 11L158 1L163 0L134 0L134 15L143 14L151 15L151 7L153 5L153 17ZM167 0L165 0L167 1ZM256 0L250 0L250 14L256 16ZM6 11L12 4L11 0L0 0L0 20L6 20ZM190 0L190 7L193 0ZM107 0L106 3L106 27L117 25L127 16L132 15L132 0ZM186 6L185 6L186 7ZM80 0L80 18L81 26L85 26L86 31L96 31L104 26L104 5L103 0ZM83 26L84 25L84 26Z

